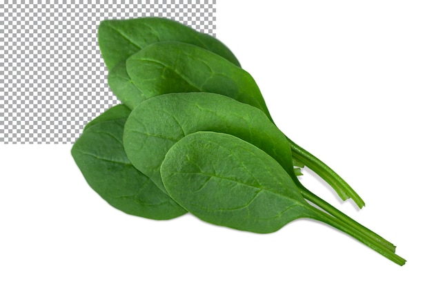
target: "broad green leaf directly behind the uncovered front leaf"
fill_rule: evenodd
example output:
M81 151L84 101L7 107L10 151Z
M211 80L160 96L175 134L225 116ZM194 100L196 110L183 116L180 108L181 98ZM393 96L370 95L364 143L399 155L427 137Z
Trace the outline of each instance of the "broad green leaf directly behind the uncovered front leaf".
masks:
M262 148L294 176L290 145L266 115L214 93L171 93L139 104L125 125L126 154L139 171L164 189L159 168L166 152L197 131L236 135Z

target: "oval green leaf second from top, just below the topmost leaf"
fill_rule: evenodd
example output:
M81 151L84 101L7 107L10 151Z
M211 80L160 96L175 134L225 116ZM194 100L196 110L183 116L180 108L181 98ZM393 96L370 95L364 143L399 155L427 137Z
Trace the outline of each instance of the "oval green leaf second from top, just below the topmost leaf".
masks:
M151 44L126 60L126 71L145 99L168 93L217 93L257 107L271 119L246 70L197 46L170 41Z

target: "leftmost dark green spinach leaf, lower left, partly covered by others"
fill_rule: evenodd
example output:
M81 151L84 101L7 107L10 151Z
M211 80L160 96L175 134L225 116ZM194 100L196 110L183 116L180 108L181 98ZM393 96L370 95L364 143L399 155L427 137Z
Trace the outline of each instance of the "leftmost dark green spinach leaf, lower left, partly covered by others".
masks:
M72 157L86 181L108 204L150 219L171 219L186 213L149 177L135 169L123 146L130 110L114 106L92 120L72 147Z

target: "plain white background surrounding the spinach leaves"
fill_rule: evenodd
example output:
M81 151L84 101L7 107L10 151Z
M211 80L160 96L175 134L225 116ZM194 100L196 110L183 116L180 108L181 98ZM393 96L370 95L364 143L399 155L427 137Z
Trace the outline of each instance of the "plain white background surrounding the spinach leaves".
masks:
M71 145L3 144L0 287L431 287L431 2L233 2L217 0L217 37L279 128L366 207L302 180L406 265L310 220L259 235L126 215L88 187Z

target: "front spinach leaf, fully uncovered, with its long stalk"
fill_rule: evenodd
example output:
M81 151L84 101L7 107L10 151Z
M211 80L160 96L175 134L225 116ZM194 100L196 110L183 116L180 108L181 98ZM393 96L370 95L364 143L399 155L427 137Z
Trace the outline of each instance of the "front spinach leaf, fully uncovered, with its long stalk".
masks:
M168 194L206 222L271 233L298 218L311 218L353 236L398 265L405 263L380 242L308 204L282 166L233 135L187 135L166 154L161 177Z

